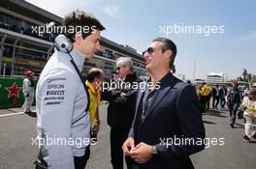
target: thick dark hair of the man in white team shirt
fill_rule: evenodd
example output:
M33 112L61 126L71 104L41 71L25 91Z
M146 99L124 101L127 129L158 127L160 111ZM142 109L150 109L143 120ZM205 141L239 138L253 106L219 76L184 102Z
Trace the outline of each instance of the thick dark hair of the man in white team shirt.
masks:
M88 29L86 29L86 31L83 31L84 27ZM105 30L105 27L95 16L79 10L74 11L64 17L62 21L62 28L63 30L65 30L63 31L64 34L71 42L75 42L75 35L79 31L81 32L82 38L85 39L91 34L93 30ZM72 28L72 30L69 30L69 28ZM81 30L79 28L81 28Z

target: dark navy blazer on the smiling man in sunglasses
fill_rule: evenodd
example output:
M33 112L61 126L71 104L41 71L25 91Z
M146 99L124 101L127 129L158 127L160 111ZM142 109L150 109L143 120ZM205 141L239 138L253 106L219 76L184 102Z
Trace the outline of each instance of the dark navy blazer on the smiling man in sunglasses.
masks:
M189 155L202 151L204 144L190 142L178 144L185 138L202 141L205 138L205 127L202 122L202 111L192 85L177 79L168 72L160 80L160 89L156 91L149 104L144 123L141 122L142 96L144 90L139 90L136 99L136 115L129 136L135 144L144 142L155 145L158 155L146 163L140 164L144 169L190 169L194 168ZM169 144L167 144L169 142ZM197 142L200 143L200 142ZM203 140L204 143L204 140Z

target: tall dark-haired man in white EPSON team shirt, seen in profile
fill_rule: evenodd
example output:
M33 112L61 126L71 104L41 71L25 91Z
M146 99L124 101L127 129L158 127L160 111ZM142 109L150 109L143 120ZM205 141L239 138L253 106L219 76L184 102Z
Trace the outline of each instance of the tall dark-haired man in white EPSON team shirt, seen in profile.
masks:
M37 85L40 153L36 168L84 169L90 142L88 96L71 57L81 71L85 58L91 59L100 49L100 31L105 27L93 15L80 11L65 16L62 26L73 49L71 56L55 50Z

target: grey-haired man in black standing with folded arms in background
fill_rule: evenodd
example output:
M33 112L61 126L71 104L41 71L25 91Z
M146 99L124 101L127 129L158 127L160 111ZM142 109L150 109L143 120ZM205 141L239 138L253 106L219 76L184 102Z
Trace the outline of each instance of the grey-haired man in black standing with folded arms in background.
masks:
M125 85L139 83L141 80L136 75L131 58L120 57L116 60L115 65L116 77L120 79L114 82L116 85L115 87L112 86L112 90L102 92L102 99L110 102L107 120L111 127L112 169L123 169L122 144L126 140L133 123L136 98L136 90ZM125 156L125 161L127 169L131 169L131 158Z

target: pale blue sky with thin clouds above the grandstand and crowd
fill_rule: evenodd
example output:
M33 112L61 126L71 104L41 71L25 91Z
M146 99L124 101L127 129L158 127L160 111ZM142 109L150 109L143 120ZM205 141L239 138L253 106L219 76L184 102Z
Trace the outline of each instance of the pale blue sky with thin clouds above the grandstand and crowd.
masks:
M254 0L27 0L64 16L80 9L97 16L107 28L102 36L128 44L139 53L157 37L177 45L176 71L186 78L206 78L209 72L237 77L245 68L256 74L256 1ZM206 32L176 32L174 25L217 28ZM169 26L168 35L161 31ZM220 31L223 26L224 31ZM172 29L173 28L173 32ZM212 28L213 29L213 28Z

